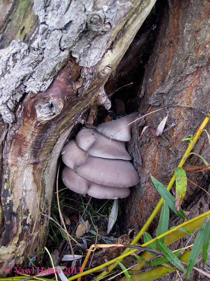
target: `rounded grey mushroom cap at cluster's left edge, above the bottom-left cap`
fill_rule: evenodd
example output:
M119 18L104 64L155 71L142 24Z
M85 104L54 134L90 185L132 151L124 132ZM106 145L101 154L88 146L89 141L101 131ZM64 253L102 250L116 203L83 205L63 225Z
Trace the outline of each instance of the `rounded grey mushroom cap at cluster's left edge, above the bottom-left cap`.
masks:
M80 166L86 161L88 153L82 150L75 140L71 140L63 146L61 155L63 163L74 170L75 166Z

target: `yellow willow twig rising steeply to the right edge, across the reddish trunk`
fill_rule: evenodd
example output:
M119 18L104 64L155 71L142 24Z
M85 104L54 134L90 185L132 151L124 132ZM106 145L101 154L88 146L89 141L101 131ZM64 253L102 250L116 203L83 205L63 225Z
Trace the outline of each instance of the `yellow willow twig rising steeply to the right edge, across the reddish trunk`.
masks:
M209 111L210 112L210 111ZM177 167L182 167L187 159L187 157L190 154L190 151L192 150L194 144L196 143L196 141L198 140L198 137L201 135L201 133L203 132L203 129L205 128L206 124L208 123L210 119L210 114L208 113L208 116L206 116L201 124L201 126L198 128L198 131L196 132L194 138L192 139L192 142L189 143L188 148L186 149L182 159L180 160L180 163ZM172 185L175 182L175 175L173 175L170 179L170 182L167 186L167 190L170 190ZM154 209L154 211L152 212L152 214L150 215L149 219L147 220L146 224L144 224L144 226L142 227L142 229L139 231L139 233L137 234L137 236L133 239L133 241L130 243L131 245L135 245L138 240L142 237L142 235L144 234L144 232L147 230L147 228L149 227L149 225L152 223L153 219L155 218L156 214L158 213L158 211L160 210L161 206L163 204L163 198L160 199L159 203L157 204L156 208ZM127 248L122 254L121 256L123 256L123 254L127 253L130 250L130 248ZM119 257L121 257L119 256ZM122 259L121 259L122 260ZM113 270L115 267L117 266L117 263L113 264L112 266L109 267L108 271L103 271L100 275L98 275L95 280L99 280L102 277L106 276L107 274L110 273L111 270Z

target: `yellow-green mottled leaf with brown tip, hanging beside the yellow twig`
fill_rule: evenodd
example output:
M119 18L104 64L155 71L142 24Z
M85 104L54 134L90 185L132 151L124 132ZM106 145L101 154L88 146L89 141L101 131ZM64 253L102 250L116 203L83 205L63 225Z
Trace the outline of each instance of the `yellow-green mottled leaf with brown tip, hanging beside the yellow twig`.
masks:
M174 175L176 179L176 211L179 212L182 200L184 199L187 190L187 175L183 168L174 168Z

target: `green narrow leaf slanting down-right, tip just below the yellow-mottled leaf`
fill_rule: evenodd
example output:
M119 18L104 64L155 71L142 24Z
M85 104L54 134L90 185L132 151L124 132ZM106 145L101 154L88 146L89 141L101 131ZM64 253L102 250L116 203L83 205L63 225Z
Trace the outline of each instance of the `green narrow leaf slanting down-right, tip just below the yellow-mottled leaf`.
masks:
M177 213L176 208L175 208L175 199L170 194L170 192L167 190L167 188L165 186L163 186L158 180L156 180L156 178L154 178L152 175L151 175L151 179L152 179L152 182L155 185L157 191L160 193L160 195L163 197L163 199L169 205L171 210L175 214L177 214L181 219L186 219L185 214L181 208L179 210L179 213Z

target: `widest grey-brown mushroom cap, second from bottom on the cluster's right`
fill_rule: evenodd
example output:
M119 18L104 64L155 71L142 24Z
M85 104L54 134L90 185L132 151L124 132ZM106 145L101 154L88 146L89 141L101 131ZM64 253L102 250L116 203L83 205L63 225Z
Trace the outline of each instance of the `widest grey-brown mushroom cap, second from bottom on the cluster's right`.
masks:
M140 181L133 165L129 161L121 159L88 156L86 162L76 171L86 180L110 187L131 187Z

